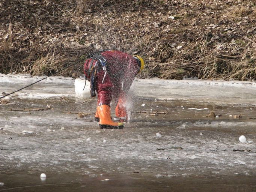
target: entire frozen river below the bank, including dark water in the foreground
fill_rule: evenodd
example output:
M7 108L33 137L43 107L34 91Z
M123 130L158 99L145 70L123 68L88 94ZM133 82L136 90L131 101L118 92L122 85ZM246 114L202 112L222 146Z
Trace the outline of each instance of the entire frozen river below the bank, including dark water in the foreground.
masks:
M0 74L0 94L40 78ZM121 130L99 129L74 82L47 78L0 105L0 191L255 191L255 81L136 79Z

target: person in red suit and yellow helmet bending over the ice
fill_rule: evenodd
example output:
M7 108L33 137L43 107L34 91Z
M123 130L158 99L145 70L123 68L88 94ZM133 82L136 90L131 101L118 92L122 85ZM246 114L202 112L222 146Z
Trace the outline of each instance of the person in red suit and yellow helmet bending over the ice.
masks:
M145 67L142 57L122 51L101 51L84 63L84 74L90 81L92 97L98 94L95 121L101 129L122 129L123 122L111 118L110 102L116 104L116 117L126 118L125 101L136 75Z

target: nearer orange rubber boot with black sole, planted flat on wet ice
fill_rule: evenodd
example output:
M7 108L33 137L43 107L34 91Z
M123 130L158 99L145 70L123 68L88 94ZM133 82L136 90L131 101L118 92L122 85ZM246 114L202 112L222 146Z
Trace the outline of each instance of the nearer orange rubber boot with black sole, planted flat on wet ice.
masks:
M101 129L122 129L123 123L112 121L110 116L110 107L108 105L99 105L97 107L99 114L99 127Z

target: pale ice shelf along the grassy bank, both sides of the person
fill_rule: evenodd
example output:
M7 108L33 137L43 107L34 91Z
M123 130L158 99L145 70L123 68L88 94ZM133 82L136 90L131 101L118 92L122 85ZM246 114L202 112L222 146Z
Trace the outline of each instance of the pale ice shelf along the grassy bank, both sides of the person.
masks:
M0 93L10 93L44 77L30 75L0 74ZM11 95L20 98L50 98L58 96L89 96L89 82L83 93L84 80L65 77L49 77L20 92ZM75 89L76 88L76 89ZM58 93L56 93L56 90ZM255 81L211 81L211 80L161 80L158 78L135 78L130 92L133 96L154 99L184 99L216 104L256 105ZM76 94L77 93L77 94Z

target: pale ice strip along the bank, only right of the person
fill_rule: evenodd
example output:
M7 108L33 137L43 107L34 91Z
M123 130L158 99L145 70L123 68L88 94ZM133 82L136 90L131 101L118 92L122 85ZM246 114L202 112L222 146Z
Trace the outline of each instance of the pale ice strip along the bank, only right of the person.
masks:
M135 79L131 89L144 98L256 105L255 81Z

